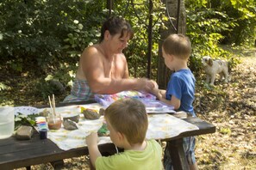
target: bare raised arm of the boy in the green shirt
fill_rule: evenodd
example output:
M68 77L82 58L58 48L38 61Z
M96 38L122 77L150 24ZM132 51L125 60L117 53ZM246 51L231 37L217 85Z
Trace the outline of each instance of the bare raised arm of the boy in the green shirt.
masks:
M102 156L99 149L97 148L97 133L96 132L92 132L89 136L86 137L86 144L89 149L91 164L93 167L95 167L95 161L97 160L97 157Z

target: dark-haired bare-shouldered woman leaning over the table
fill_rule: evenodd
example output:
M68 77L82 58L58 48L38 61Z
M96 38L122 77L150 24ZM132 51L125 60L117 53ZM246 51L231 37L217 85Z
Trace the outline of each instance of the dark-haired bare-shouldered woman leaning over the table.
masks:
M122 18L111 17L105 21L100 43L84 49L71 94L64 102L94 100L94 94L116 94L125 90L150 92L157 86L146 78L129 78L122 50L133 35L129 23Z

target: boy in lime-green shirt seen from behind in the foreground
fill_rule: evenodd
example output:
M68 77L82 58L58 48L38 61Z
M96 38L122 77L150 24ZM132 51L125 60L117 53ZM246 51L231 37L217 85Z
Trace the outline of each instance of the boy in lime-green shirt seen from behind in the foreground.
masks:
M96 169L163 169L162 149L155 140L146 141L147 112L140 100L124 99L111 104L104 114L111 141L124 152L102 156L97 133L86 137L91 163Z

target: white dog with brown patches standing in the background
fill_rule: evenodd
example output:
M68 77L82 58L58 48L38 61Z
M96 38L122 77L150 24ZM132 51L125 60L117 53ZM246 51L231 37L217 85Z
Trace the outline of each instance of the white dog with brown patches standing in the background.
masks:
M229 74L228 74L228 62L222 61L219 59L213 60L209 56L204 56L202 59L203 70L206 73L206 82L211 85L214 85L215 76L219 74L221 76L225 76L225 82L228 82Z

